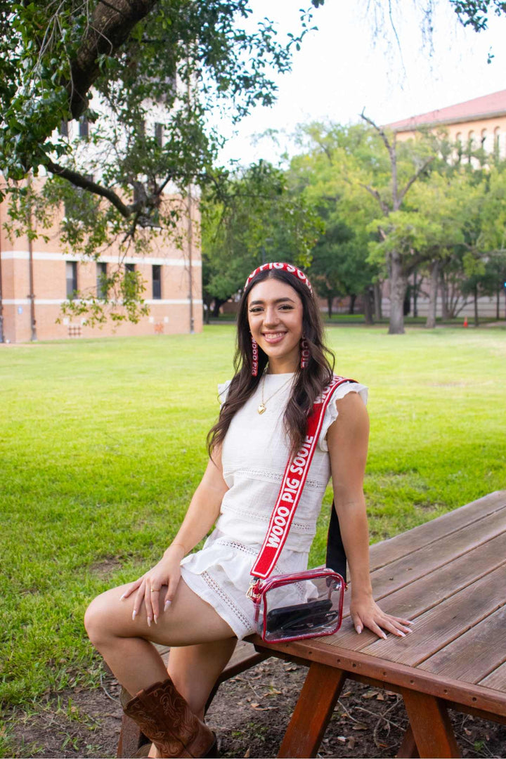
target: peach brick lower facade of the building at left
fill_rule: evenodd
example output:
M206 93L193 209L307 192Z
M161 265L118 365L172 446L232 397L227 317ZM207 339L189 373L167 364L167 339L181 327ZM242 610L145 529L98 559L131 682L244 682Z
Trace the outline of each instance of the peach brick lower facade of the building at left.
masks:
M154 239L149 255L127 256L121 266L137 270L145 282L143 297L149 316L139 323L86 326L85 317L61 315L61 304L74 290L100 292L100 275L117 267L118 247L108 249L97 262L83 262L65 251L58 235L58 220L42 238L30 244L26 235L11 240L3 224L7 203L0 204L0 318L5 342L51 340L106 335L151 335L202 330L202 263L198 235L184 235L182 247ZM193 224L198 225L195 204ZM186 228L187 219L184 219ZM31 276L31 281L30 281ZM191 281L191 287L190 287ZM61 323L56 323L58 317ZM33 325L33 321L35 324Z

